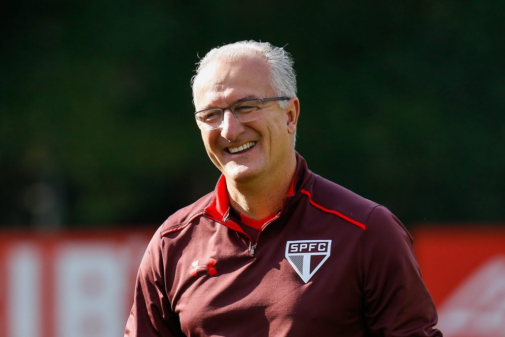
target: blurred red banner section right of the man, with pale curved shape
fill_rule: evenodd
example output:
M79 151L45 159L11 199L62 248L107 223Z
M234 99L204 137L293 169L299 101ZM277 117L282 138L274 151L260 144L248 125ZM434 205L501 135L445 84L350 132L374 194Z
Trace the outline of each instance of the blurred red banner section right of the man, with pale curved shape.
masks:
M505 228L444 224L413 235L444 336L505 336Z

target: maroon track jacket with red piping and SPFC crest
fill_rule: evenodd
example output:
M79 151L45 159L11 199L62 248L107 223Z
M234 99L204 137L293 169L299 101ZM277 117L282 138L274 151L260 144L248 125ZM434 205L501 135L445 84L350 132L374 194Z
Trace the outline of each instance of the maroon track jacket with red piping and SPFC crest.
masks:
M282 210L258 234L243 228L223 176L170 216L140 264L125 336L442 335L405 227L298 154Z

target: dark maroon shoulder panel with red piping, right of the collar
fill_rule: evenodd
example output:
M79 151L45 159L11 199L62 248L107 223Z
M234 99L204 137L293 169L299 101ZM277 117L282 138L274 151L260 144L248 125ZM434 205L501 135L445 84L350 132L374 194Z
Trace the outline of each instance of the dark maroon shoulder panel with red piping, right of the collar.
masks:
M301 189L301 193L306 194L314 206L339 215L349 222L364 227L368 225L372 211L379 207L379 204L317 174L314 176L315 179ZM361 225L360 227L365 229Z

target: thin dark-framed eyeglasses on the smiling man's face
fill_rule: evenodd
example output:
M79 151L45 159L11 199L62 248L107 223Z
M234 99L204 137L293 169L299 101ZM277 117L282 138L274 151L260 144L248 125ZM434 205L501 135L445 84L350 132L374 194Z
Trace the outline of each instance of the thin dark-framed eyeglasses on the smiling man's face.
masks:
M223 116L226 110L230 110L233 116L241 122L252 122L258 119L258 110L261 110L265 106L265 102L272 101L286 101L289 100L287 97L271 97L266 99L252 99L237 102L226 108L212 108L197 111L194 113L194 118L196 119L196 124L200 130L215 130L221 127L223 123Z

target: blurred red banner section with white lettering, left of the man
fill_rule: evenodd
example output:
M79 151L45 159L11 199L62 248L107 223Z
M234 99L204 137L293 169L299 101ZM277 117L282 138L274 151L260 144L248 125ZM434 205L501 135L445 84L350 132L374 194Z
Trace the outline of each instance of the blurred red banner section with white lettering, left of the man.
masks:
M0 233L2 336L123 335L153 233Z

